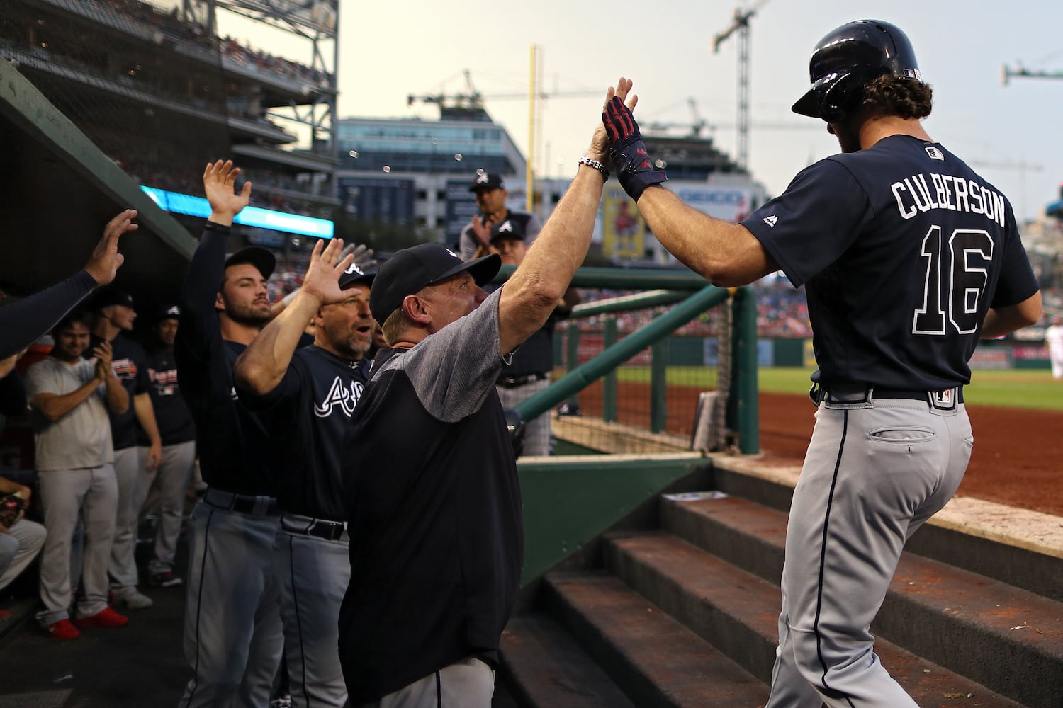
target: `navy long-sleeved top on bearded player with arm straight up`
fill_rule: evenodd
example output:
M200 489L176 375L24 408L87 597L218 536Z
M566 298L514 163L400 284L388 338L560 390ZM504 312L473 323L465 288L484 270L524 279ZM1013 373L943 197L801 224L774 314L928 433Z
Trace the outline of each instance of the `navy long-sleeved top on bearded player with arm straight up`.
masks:
M214 304L225 274L229 227L207 223L181 292L173 344L181 391L196 424L203 481L224 491L272 496L275 461L259 417L240 405L233 366L247 348L221 339Z

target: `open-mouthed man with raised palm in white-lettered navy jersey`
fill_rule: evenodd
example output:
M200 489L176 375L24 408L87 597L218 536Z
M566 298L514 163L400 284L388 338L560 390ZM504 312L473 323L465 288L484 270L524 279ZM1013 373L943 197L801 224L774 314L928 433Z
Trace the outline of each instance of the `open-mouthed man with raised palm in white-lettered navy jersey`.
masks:
M276 443L281 531L274 573L281 590L291 704L347 704L336 649L339 606L351 579L343 521L343 433L368 380L374 273L343 242L318 242L299 294L236 361L240 401L257 411ZM313 318L314 344L297 348Z

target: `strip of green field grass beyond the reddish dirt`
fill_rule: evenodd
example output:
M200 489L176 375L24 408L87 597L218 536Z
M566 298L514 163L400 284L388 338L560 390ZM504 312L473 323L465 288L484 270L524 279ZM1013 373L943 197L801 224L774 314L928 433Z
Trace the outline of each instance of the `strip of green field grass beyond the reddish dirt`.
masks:
M813 370L800 367L761 368L758 383L761 391L769 393L807 394ZM620 381L648 383L649 367L624 366L619 369L618 378ZM670 385L713 388L716 370L702 366L671 366L668 382ZM1052 379L1048 369L979 369L973 373L972 383L964 388L963 396L973 405L1063 411L1063 381Z

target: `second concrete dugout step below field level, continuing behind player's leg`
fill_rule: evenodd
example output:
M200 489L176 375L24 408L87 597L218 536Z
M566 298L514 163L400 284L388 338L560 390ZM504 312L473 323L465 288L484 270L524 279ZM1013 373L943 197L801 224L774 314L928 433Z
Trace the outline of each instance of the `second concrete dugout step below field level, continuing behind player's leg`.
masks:
M618 579L753 676L771 680L778 639L778 586L664 532L611 536L605 556ZM1050 698L1056 703L1019 704L890 642L876 641L875 651L919 705L1059 706L1058 691Z

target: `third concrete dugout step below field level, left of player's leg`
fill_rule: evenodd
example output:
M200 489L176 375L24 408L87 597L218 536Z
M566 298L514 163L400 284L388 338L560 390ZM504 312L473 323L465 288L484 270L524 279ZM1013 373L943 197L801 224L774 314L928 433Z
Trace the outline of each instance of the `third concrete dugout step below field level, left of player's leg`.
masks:
M551 573L544 595L551 614L640 708L755 708L767 700L762 680L617 577Z

